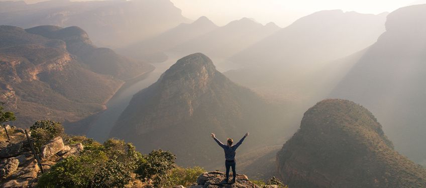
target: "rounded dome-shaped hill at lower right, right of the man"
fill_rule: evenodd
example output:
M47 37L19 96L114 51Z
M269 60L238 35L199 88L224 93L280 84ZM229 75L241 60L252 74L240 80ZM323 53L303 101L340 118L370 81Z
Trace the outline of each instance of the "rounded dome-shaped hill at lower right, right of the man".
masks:
M426 186L426 169L396 152L372 113L347 100L307 110L277 161L292 187Z

